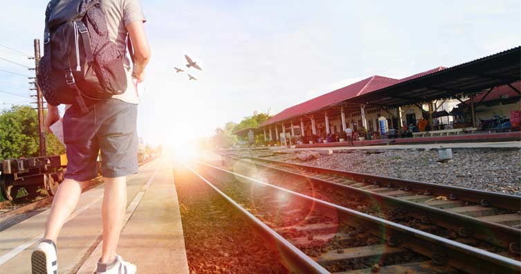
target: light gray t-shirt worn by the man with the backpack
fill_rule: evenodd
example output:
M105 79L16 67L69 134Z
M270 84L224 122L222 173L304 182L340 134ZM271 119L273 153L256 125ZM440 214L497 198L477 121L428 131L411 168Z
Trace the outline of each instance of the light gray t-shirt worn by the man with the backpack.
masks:
M109 37L113 42L116 42L120 53L125 53L127 51L126 27L136 21L145 22L140 0L101 0L100 2L107 19ZM131 67L127 55L125 55L125 69L127 69L127 91L121 95L113 95L112 98L138 104L139 97L136 86L132 81Z

